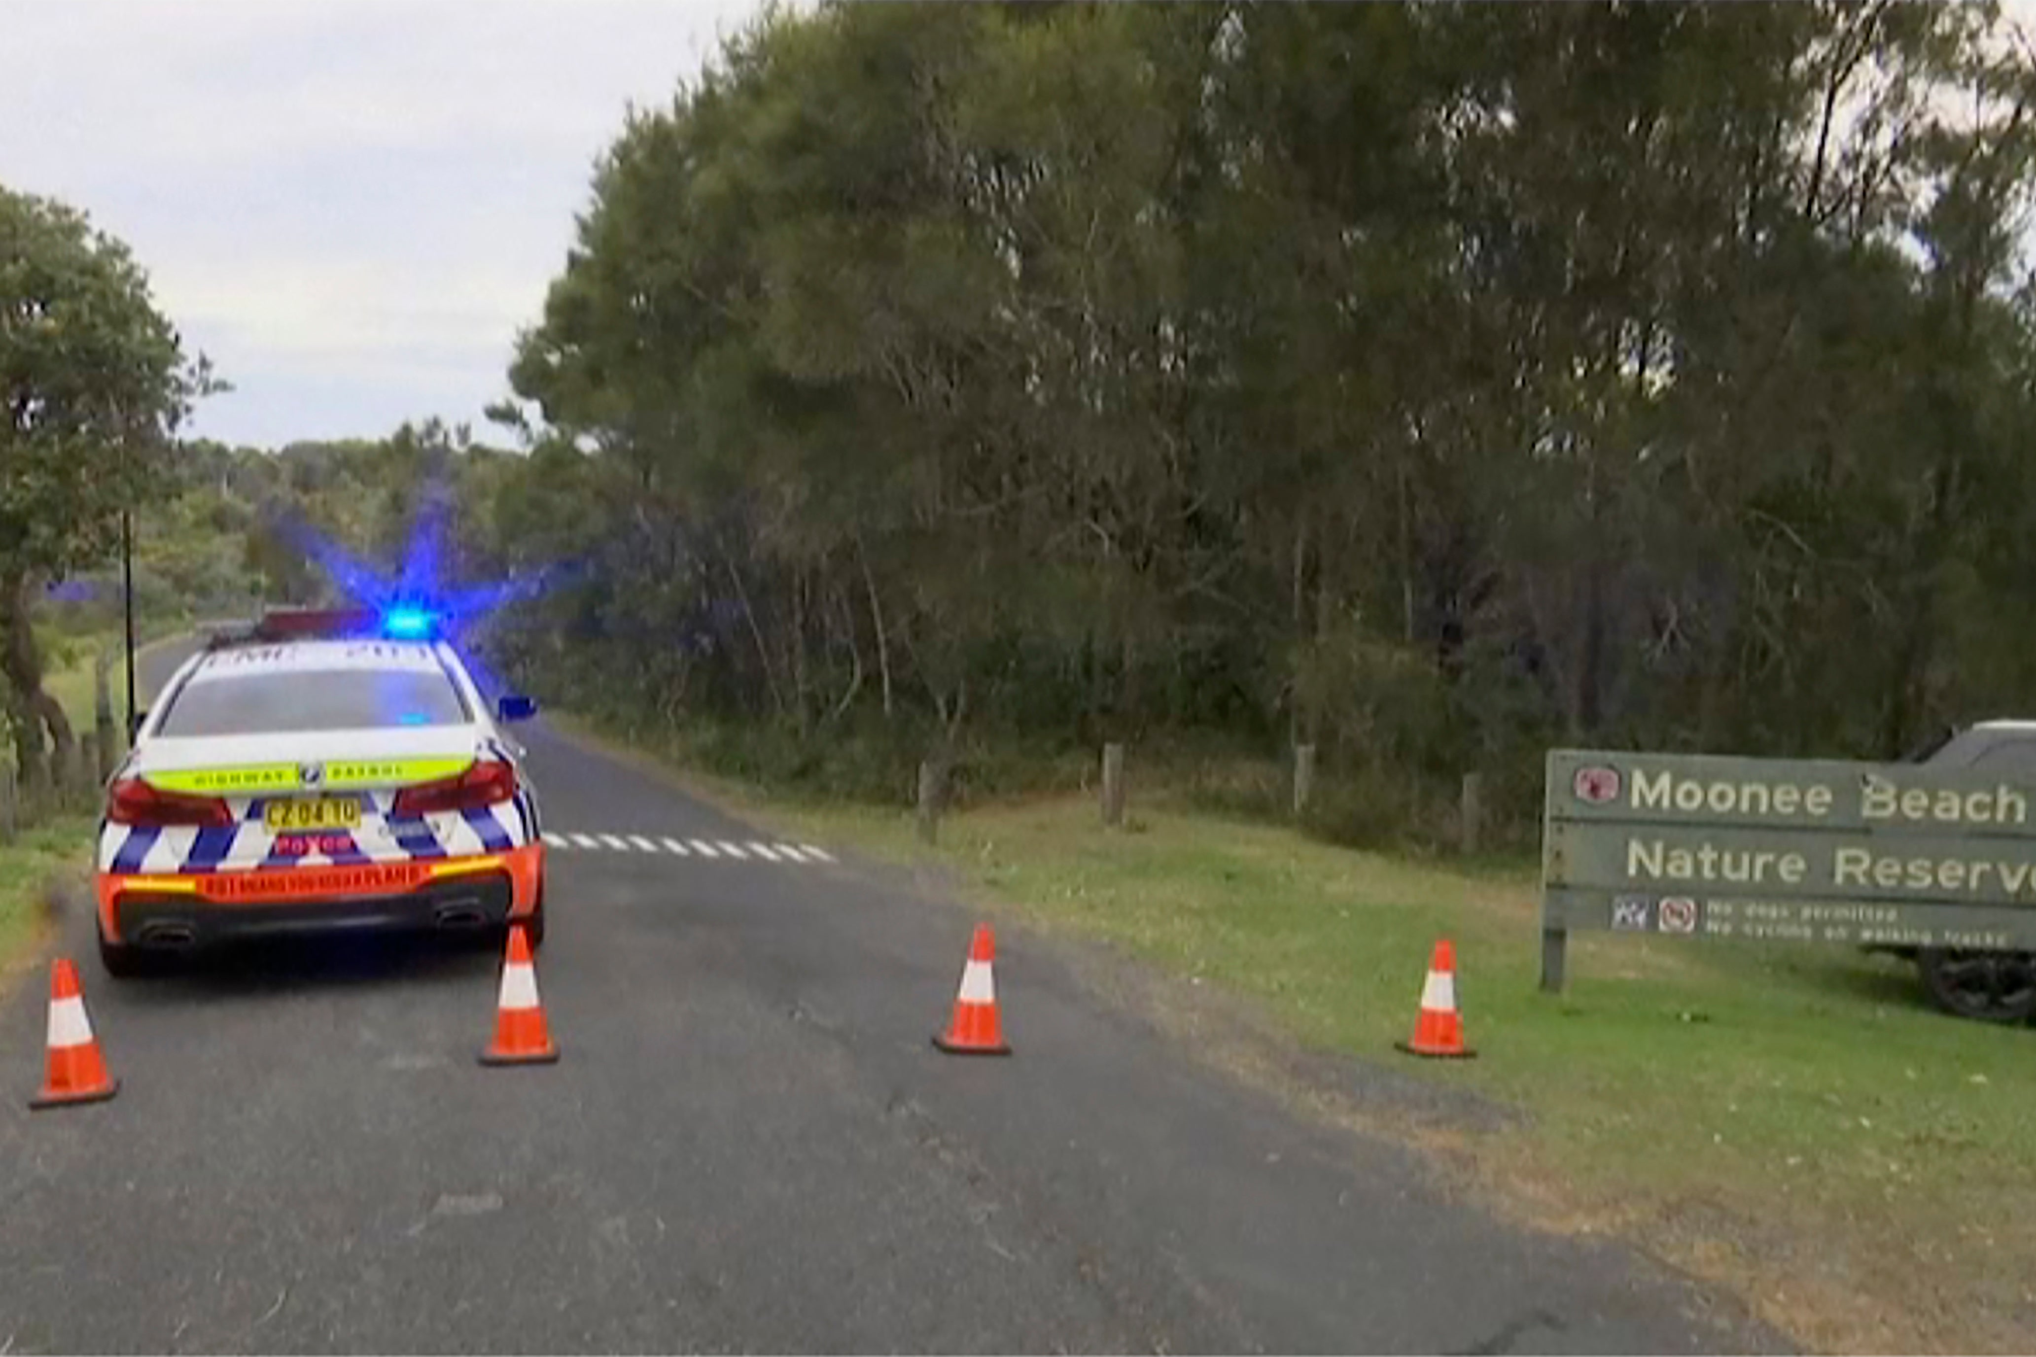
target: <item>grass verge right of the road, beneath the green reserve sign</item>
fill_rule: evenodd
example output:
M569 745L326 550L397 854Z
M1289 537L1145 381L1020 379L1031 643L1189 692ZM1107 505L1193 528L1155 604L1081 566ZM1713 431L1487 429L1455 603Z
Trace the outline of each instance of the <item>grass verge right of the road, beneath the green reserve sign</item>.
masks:
M1154 802L951 816L709 791L804 836L939 865L981 903L1205 981L1305 1046L1496 1099L1444 1158L1543 1227L1617 1233L1822 1351L2036 1343L2036 1036L1930 1011L1906 964L1851 950L1572 940L1535 989L1531 865L1354 852ZM1458 944L1474 1062L1413 1062L1435 938Z

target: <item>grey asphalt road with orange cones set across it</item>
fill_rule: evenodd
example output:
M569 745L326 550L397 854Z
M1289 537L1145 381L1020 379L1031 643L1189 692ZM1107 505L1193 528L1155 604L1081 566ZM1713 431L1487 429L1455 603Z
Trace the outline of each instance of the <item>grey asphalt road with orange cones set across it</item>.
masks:
M79 911L63 946L124 1086L31 1115L45 989L0 999L0 1353L1777 1343L1203 1068L1059 944L1000 934L1016 1058L941 1056L963 911L839 846L656 850L776 840L527 741L546 828L597 836L550 865L562 1062L474 1062L493 952L114 983Z

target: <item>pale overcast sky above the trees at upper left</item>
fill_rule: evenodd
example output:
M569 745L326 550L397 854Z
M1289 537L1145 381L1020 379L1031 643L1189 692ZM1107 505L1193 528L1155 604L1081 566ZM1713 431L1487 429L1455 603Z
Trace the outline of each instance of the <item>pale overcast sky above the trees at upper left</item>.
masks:
M0 183L126 240L238 444L485 431L631 102L757 0L0 0Z

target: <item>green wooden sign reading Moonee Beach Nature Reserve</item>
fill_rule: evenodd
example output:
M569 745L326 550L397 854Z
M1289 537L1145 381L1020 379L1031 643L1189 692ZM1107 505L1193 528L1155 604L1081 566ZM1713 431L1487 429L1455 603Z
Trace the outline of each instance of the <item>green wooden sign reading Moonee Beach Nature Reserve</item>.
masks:
M1541 989L1572 930L2036 950L2036 785L1926 765L1558 749Z

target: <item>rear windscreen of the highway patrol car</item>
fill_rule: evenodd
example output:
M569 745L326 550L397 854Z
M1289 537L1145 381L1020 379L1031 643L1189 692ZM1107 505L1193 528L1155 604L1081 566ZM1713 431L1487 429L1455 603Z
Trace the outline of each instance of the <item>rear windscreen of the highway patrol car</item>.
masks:
M468 720L452 680L426 669L273 669L187 684L157 734L293 734L458 726Z

